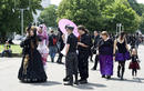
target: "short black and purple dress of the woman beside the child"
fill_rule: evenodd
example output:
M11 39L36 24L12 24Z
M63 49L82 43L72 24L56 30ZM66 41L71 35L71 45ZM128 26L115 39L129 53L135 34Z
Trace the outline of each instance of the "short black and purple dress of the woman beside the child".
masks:
M115 53L115 61L126 61L131 59L130 52L126 49L126 42L117 42L117 51Z

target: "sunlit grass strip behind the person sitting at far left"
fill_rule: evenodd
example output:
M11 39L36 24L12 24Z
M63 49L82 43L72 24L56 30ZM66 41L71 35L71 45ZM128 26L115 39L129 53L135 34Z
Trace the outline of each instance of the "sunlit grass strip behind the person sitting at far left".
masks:
M3 51L3 44L0 44L0 53ZM11 44L12 53L22 53L20 46Z

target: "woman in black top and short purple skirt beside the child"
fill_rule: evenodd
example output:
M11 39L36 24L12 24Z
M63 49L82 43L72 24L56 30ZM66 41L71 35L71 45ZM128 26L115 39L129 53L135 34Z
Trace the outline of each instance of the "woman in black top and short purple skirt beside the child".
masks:
M119 38L114 41L114 51L113 59L119 62L117 65L117 77L123 80L124 71L125 71L125 61L130 60L130 52L126 41L125 32L121 32Z

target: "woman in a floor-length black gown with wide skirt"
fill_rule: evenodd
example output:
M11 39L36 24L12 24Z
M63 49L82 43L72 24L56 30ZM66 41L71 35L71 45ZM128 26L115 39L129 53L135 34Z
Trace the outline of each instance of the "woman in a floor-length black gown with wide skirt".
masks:
M39 43L37 28L29 27L27 33L27 39L21 43L23 48L23 59L18 78L22 82L44 82L47 81L47 74L41 54L37 50Z

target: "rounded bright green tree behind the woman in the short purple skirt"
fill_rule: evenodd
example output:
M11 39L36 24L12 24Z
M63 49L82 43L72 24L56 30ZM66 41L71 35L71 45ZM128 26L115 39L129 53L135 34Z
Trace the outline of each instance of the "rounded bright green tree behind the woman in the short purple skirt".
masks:
M134 32L138 29L140 17L130 7L126 0L115 0L112 6L107 6L104 14L106 14L106 29L115 31L116 23L124 26L124 31Z

